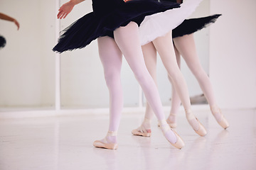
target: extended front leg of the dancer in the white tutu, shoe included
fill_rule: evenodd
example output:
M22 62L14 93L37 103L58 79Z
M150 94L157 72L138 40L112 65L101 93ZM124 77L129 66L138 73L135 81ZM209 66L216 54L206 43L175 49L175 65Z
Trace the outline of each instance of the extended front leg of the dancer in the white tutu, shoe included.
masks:
M186 112L186 118L188 123L192 126L198 135L205 136L206 129L198 121L195 115L191 112L191 103L188 95L188 87L186 86L186 81L181 74L178 64L176 62L174 45L171 38L171 32L167 33L163 37L156 38L154 41L154 46L159 52L161 60L166 68L171 80L174 84L178 96L181 98L181 102Z

